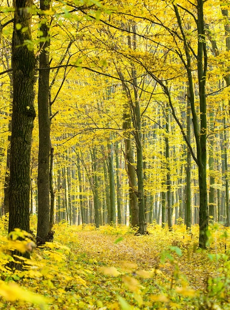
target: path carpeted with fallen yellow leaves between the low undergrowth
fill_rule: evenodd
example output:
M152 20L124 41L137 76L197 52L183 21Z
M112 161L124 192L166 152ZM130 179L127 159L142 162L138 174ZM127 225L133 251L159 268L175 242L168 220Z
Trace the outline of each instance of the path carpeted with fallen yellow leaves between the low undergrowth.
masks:
M95 268L112 266L120 270L124 264L130 263L133 274L137 270L159 270L158 276L169 281L173 281L176 272L181 281L186 279L194 289L204 289L209 277L217 277L217 269L221 264L210 261L207 253L197 253L197 238L181 231L156 229L150 235L134 236L82 230L77 231L75 237L77 244L74 246L74 253L81 261L93 263ZM71 244L72 241L69 241ZM174 250L169 250L169 247L174 247ZM181 249L182 256L176 254L179 252L178 248ZM163 256L170 255L174 260L166 258L162 262Z

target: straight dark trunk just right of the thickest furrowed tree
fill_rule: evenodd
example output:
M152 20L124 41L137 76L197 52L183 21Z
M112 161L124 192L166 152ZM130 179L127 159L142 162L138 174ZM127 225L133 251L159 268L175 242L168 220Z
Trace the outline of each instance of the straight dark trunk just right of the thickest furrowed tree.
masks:
M49 10L50 2L40 0L41 10ZM41 18L39 68L49 68L49 28L46 17ZM45 42L44 42L45 40ZM38 119L39 119L39 153L38 153L38 228L37 241L44 244L51 241L50 231L50 104L49 104L50 70L39 71L38 82Z

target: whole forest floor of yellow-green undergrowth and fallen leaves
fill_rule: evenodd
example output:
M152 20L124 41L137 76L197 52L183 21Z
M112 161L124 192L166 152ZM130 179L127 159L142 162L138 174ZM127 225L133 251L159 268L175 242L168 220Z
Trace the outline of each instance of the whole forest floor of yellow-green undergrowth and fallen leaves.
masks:
M201 251L198 226L187 232L184 225L169 231L154 224L149 235L136 236L125 226L63 222L55 226L53 243L36 248L23 270L12 272L9 251L26 251L29 235L7 240L5 226L1 219L0 309L230 309L226 227L211 225L210 246Z

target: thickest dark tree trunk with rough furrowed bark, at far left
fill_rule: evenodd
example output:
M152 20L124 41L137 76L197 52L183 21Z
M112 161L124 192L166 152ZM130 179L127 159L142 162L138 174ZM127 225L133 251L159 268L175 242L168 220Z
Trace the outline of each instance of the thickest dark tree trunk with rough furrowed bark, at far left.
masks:
M35 55L31 42L32 0L14 2L12 36L12 134L9 179L9 227L29 232L30 154L34 108ZM22 31L23 30L23 31ZM27 254L28 256L28 254Z

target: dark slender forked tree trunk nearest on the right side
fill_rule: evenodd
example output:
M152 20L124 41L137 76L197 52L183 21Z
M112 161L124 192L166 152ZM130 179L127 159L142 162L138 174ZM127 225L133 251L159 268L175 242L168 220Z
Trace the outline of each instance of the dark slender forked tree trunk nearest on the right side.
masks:
M199 113L195 107L195 91L193 86L193 75L191 71L191 55L189 45L183 30L181 18L178 12L178 7L173 4L176 14L177 22L181 31L184 43L184 51L186 55L186 62L183 59L185 69L187 71L188 87L189 87L189 101L191 104L192 121L194 136L196 140L197 157L193 157L198 166L199 174L199 193L200 193L200 209L199 209L199 247L205 248L208 243L208 197L207 197L207 111L206 111L206 73L207 73L207 49L205 41L205 27L204 27L204 14L203 14L203 0L197 0L197 56L196 56L196 69L198 75L199 86ZM181 56L183 57L183 56ZM173 115L175 117L175 115ZM188 143L188 142L187 142ZM191 146L190 146L191 147Z

